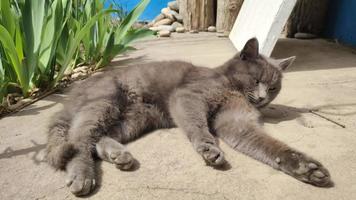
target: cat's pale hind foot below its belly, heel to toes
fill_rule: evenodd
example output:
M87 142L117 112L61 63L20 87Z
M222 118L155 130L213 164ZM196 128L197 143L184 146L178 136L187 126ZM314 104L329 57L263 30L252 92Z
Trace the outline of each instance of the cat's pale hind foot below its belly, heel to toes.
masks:
M96 152L99 158L121 170L129 170L134 164L134 158L125 146L110 137L104 136L96 143Z

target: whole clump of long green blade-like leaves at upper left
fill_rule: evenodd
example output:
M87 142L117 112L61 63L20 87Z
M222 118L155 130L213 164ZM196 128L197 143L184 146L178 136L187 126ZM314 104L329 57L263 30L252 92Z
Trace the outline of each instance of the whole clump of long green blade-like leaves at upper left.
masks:
M15 85L27 97L50 89L80 61L102 67L129 43L152 35L130 27L150 0L142 0L120 24L102 0L0 1L0 103ZM79 48L81 47L81 48Z

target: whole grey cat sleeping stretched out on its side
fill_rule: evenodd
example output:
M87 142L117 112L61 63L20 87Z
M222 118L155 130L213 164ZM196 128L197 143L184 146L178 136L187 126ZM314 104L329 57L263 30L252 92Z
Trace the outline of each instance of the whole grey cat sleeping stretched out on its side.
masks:
M320 187L332 186L318 161L265 134L258 108L281 89L282 70L295 57L275 60L250 39L220 67L180 61L154 62L95 75L78 84L49 127L47 160L67 172L77 195L95 187L94 156L129 170L133 156L123 146L158 128L181 128L212 166L225 163L217 138L237 151Z

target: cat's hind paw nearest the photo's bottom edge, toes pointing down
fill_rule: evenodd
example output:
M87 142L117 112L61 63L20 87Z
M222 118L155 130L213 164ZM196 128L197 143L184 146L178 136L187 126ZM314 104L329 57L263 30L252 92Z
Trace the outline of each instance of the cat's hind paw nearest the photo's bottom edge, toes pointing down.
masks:
M75 196L84 196L95 188L96 180L84 173L77 173L68 175L66 184Z

